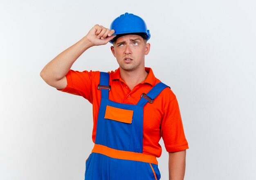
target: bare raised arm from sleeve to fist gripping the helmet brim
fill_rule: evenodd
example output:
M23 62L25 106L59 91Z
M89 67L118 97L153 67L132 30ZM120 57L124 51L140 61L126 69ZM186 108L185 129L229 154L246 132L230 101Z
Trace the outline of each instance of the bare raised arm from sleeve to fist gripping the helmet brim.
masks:
M57 89L64 89L67 86L66 74L77 58L90 47L107 44L115 38L115 35L112 35L113 33L115 33L113 29L110 30L96 24L79 42L76 42L76 44L46 64L40 76L50 86Z

